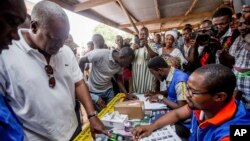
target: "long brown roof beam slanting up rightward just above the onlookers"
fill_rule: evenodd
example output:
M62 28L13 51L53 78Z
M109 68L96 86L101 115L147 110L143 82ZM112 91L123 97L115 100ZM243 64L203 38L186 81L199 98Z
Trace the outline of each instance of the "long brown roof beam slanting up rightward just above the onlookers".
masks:
M183 20L185 18L199 18L199 17L207 17L207 16L211 16L211 13L212 12L203 12L203 13L197 13L197 14L189 14L187 15L186 17L184 16L175 16L175 17L169 17L169 18L161 18L161 19L154 19L154 20L149 20L149 21L142 21L142 22L137 22L135 23L136 26L138 25L147 25L147 24L154 24L154 23L166 23L166 22L173 22L173 21L176 21L176 20ZM120 25L119 28L122 29L122 28L127 28L127 27L131 27L132 24L123 24L123 25Z

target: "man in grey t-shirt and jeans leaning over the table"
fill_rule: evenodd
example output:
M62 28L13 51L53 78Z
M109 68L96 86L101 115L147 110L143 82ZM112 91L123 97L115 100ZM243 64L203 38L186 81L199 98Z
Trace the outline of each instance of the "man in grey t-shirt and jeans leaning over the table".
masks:
M81 69L84 68L86 63L92 63L88 86L98 112L114 98L111 79L116 74L118 75L117 84L120 90L126 94L126 98L136 99L135 95L128 94L122 82L122 69L128 67L134 58L134 51L129 47L123 47L119 51L94 49L80 59L79 66Z

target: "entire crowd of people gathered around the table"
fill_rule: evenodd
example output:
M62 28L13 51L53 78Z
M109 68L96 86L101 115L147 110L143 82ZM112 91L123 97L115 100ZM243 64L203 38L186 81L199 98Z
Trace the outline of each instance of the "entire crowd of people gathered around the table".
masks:
M198 28L186 24L152 40L147 27L131 43L117 35L115 49L94 34L79 60L66 45L69 20L56 3L38 2L30 16L23 0L3 0L0 9L1 140L73 140L82 124L77 103L92 136L110 136L97 114L120 92L171 109L135 127L135 140L174 124L184 140L225 141L230 125L250 123L248 5L241 13L223 6Z

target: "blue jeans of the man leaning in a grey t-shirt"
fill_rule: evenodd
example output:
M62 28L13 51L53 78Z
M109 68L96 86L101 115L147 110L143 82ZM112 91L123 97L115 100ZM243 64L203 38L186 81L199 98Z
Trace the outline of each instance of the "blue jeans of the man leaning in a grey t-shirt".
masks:
M101 97L102 100L104 100L105 103L108 104L114 98L114 91L113 88L110 88L105 92L90 92L90 95L94 103L96 103L99 97ZM97 104L95 104L95 109L98 112L101 111L101 108Z

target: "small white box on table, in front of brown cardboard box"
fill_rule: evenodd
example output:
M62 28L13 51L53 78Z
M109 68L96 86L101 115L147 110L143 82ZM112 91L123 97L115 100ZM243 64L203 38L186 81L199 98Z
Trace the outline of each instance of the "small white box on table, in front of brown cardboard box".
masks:
M128 115L122 115L118 112L108 113L102 118L104 126L117 129L124 129L124 123L127 121Z

